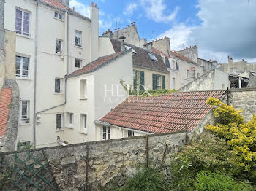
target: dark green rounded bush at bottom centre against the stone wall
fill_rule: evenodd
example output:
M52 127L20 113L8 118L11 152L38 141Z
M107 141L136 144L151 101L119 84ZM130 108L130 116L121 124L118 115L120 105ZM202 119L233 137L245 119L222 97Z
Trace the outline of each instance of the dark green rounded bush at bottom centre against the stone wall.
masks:
M152 169L140 169L135 176L128 179L124 187L116 187L112 191L164 191L167 182L161 172Z

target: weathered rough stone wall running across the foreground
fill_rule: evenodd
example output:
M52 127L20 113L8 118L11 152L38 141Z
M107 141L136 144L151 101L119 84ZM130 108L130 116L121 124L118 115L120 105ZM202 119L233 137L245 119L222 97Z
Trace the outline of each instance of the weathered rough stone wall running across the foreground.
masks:
M45 171L46 176L53 181L52 184L59 187L59 190L80 190L86 182L89 190L99 190L100 187L108 186L110 182L124 184L124 177L130 176L138 165L146 165L151 161L157 165L168 163L171 154L179 145L184 144L185 140L186 132L177 132L94 141L67 147L1 152L0 169L6 168L6 162L13 164L17 156L25 160L26 155L33 155L39 158L39 163L33 163L32 158L29 159L31 162L27 165L34 170L29 171L26 176L33 174L43 164L50 169ZM26 166L22 165L19 168L21 173L26 172ZM0 176L3 173L1 171ZM26 183L26 180L23 183ZM31 190L33 188L30 187Z

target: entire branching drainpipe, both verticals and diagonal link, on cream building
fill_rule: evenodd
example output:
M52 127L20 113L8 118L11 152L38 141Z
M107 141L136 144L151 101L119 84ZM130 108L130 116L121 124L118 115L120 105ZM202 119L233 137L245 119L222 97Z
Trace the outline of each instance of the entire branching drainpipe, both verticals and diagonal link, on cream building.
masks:
M37 3L37 22L36 22L36 37L35 37L35 40L36 40L36 51L35 51L35 70L34 70L34 124L33 124L33 128L34 128L34 146L36 146L36 121L37 121L37 115L42 113L42 112L46 112L50 109L54 109L56 107L59 107L59 106L63 106L64 104L66 104L67 102L67 77L64 77L65 78L65 85L64 85L64 88L65 88L65 92L64 92L64 103L62 104L59 104L57 106L52 106L48 109L44 109L44 110L41 110L39 112L35 112L36 111L36 88L37 88L37 31L38 30L38 3ZM67 74L69 74L69 12L67 11ZM67 74L65 76L67 76Z

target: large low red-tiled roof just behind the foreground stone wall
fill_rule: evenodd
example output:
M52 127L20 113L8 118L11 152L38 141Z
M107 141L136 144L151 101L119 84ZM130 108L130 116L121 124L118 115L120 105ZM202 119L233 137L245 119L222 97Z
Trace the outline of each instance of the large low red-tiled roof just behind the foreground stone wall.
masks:
M193 130L211 110L206 100L221 98L225 90L170 93L156 97L129 97L101 122L148 133Z

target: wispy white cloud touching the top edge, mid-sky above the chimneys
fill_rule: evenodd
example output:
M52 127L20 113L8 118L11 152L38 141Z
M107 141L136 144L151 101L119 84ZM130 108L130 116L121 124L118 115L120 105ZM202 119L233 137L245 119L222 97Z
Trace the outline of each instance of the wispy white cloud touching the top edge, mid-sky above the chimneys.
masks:
M165 15L164 12L167 12L167 7L163 3L163 0L140 0L140 2L146 13L146 17L156 22L169 23L175 20L179 9L179 7L175 7L172 13ZM168 7L168 9L170 9L170 7Z

